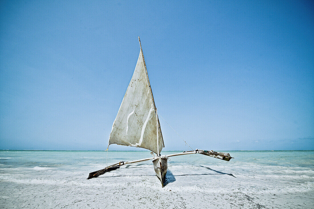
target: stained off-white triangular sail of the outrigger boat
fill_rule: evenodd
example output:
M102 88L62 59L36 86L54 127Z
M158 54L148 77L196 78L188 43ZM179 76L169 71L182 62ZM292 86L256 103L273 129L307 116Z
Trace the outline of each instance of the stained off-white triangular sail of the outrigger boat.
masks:
M157 121L148 80L144 67L142 50L120 109L113 122L109 137L110 144L120 144L149 149L160 153L162 140L157 151ZM159 139L161 138L160 131Z

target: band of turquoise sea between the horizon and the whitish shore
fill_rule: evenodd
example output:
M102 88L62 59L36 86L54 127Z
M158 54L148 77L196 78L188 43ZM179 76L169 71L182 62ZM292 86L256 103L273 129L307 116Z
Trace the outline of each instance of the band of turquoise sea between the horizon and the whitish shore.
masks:
M162 151L162 155L181 151ZM235 159L229 162L203 155L172 157L171 164L233 164L253 163L256 165L286 166L314 169L314 151L220 151L230 153ZM82 169L90 163L116 163L133 159L149 158L149 151L58 151L58 150L0 150L0 168L51 167L64 169L73 166Z

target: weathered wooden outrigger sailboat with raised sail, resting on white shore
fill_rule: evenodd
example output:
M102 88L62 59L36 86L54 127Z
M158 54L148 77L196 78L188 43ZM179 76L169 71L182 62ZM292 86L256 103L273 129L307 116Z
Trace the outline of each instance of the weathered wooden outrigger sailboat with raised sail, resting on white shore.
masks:
M121 161L107 166L104 169L89 173L87 179L98 177L126 164L153 160L155 173L160 180L162 187L164 187L169 157L199 153L229 161L232 158L229 153L215 152L213 150L196 149L181 153L160 155L162 148L165 147L165 143L139 37L138 41L140 45L138 61L116 119L113 122L108 148L111 144L142 147L150 150L152 157L128 162Z

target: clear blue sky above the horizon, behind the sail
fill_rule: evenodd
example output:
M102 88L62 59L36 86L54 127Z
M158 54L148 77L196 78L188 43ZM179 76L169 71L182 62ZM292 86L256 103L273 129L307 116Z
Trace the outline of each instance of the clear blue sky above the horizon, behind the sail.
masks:
M0 149L105 150L138 36L192 148L314 149L312 1L1 1L0 27Z

